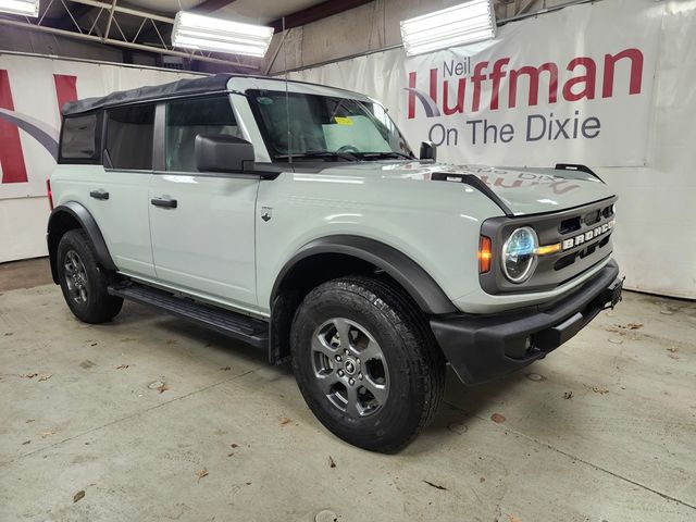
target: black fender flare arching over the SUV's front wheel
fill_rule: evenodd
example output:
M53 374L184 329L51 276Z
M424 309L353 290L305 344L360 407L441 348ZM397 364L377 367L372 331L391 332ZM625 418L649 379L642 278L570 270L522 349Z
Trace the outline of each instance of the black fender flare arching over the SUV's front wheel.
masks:
M457 311L435 279L411 258L384 243L351 235L322 237L300 248L278 273L271 293L271 303L275 302L283 281L293 268L303 259L321 253L351 256L384 270L425 313L435 315Z

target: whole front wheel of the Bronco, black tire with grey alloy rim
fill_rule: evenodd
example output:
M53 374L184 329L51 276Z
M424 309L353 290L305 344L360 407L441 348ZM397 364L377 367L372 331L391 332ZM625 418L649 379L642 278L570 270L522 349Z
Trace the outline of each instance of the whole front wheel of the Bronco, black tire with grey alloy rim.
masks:
M443 397L444 359L425 318L400 289L375 278L313 289L295 316L291 351L312 412L364 449L406 446Z

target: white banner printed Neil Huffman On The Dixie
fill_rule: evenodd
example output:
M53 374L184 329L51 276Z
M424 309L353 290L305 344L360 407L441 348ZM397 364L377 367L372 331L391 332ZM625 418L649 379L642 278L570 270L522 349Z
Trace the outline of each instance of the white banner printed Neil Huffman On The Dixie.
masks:
M663 9L606 0L505 25L487 42L293 77L371 94L412 147L434 141L444 161L645 165Z

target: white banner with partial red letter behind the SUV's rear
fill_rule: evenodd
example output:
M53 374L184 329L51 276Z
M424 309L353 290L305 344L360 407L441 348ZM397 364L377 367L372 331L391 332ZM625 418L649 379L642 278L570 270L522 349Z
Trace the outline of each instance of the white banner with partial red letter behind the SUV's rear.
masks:
M194 73L0 53L0 199L46 196L55 165L59 107Z

